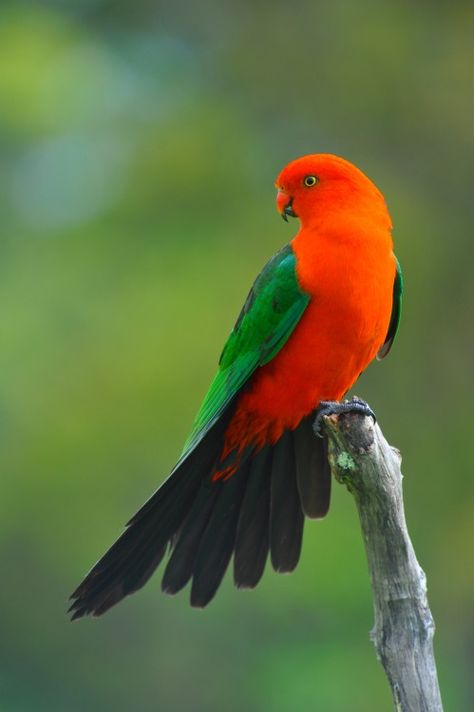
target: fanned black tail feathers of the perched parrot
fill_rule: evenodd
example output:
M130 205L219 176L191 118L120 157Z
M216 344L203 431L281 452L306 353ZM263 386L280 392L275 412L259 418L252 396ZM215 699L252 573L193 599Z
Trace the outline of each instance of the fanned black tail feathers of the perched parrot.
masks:
M292 571L301 552L304 514L329 507L325 441L312 416L286 431L273 447L245 457L227 480L212 481L231 409L128 522L121 537L74 591L72 619L101 615L141 588L172 554L163 591L176 593L192 578L191 605L216 593L234 553L236 586L253 588L268 553L275 571Z

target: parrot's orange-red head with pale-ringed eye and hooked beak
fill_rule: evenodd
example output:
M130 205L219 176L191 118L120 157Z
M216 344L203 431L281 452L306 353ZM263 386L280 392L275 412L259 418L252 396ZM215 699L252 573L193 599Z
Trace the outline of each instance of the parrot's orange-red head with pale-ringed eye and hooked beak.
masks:
M382 193L366 175L344 158L315 153L289 163L276 179L277 209L310 227L350 214L391 227Z

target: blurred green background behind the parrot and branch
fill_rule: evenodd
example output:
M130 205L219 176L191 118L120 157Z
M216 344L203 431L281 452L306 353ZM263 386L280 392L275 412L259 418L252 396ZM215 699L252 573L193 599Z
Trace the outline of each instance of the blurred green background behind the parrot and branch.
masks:
M468 1L2 2L1 712L391 710L338 486L292 576L65 615L295 231L276 174L319 151L393 216L402 327L356 392L403 453L446 710L474 709L473 35Z

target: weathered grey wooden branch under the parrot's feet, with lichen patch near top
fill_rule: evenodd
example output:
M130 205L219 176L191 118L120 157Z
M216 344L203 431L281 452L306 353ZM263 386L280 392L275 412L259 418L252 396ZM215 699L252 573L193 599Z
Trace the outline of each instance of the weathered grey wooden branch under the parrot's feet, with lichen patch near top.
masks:
M408 535L400 453L371 418L324 418L329 461L353 494L372 583L371 639L392 688L397 712L442 712L433 654L434 621L426 577Z

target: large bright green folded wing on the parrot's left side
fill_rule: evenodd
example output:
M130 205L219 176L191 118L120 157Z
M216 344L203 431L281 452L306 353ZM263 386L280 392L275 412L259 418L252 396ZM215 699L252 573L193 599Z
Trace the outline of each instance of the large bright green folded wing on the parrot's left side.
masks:
M265 265L255 280L224 346L219 370L204 398L182 457L208 432L259 366L281 349L309 302L296 278L296 257L290 245Z

